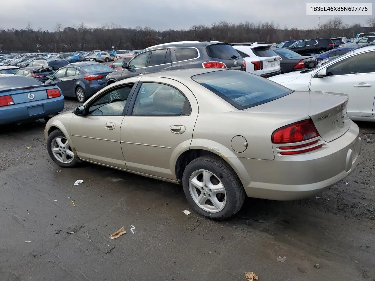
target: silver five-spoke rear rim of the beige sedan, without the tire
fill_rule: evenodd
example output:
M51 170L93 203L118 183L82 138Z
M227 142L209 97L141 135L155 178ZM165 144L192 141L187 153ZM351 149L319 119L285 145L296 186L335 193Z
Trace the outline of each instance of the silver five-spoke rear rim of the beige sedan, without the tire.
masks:
M217 176L207 170L192 173L189 191L195 203L204 211L216 213L225 206L225 187Z

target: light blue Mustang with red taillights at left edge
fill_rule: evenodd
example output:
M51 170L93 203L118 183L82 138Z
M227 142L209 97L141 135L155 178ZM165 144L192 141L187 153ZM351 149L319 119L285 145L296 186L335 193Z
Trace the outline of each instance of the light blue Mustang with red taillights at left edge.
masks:
M48 118L64 109L64 96L56 85L27 76L0 75L0 125Z

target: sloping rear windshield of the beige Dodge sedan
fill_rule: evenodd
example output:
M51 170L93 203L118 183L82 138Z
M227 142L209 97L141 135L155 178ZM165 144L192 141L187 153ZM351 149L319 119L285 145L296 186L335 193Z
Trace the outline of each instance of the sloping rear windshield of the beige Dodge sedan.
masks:
M237 109L246 109L279 99L292 90L245 71L219 70L192 79Z

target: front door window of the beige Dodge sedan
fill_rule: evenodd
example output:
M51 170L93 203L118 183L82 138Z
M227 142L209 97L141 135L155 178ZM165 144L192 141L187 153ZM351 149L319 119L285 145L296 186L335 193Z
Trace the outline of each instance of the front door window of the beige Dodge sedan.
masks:
M134 84L123 85L98 97L89 106L89 115L121 116Z

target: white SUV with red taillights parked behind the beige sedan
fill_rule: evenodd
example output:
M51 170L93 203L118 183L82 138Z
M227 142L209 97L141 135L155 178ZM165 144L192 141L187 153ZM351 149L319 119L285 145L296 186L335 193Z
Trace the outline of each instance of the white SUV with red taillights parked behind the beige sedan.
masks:
M232 44L246 61L246 71L269 78L281 73L280 57L270 47L272 44Z

